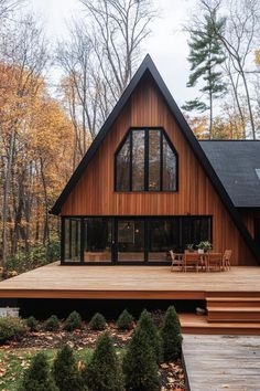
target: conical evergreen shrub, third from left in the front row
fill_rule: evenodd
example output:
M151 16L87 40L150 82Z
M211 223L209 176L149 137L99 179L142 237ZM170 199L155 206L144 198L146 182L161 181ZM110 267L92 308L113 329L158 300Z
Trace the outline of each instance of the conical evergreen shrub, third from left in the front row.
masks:
M123 391L121 366L108 332L102 334L84 370L84 379L91 391Z

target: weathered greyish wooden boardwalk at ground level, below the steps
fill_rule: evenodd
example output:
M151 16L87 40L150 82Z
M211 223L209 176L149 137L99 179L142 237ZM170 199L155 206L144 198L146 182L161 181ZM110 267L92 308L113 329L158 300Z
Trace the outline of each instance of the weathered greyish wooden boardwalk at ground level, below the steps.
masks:
M191 391L260 389L260 337L184 336Z

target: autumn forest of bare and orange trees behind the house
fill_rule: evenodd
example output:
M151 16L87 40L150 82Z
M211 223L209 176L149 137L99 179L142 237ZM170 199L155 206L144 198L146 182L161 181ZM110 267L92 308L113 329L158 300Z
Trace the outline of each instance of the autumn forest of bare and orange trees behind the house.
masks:
M163 23L155 0L77 1L66 39L50 42L25 1L0 0L0 266L10 275L58 258L48 211ZM183 112L196 137L260 138L260 3L198 0L182 33L183 83L198 92Z

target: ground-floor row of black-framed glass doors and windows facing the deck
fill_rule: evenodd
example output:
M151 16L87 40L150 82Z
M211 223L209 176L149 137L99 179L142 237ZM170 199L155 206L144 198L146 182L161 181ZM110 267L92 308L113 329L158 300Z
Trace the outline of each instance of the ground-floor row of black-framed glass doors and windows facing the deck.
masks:
M62 262L160 264L201 241L212 242L212 216L63 218Z

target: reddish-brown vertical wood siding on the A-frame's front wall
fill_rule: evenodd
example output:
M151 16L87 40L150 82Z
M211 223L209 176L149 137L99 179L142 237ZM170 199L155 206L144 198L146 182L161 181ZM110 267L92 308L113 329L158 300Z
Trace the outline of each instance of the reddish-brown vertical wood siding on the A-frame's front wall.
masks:
M113 154L130 127L163 127L178 154L178 191L115 192ZM213 215L215 251L232 264L254 264L229 213L151 80L143 80L68 196L62 215Z

